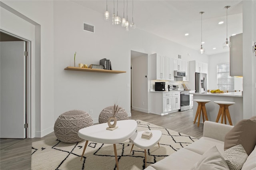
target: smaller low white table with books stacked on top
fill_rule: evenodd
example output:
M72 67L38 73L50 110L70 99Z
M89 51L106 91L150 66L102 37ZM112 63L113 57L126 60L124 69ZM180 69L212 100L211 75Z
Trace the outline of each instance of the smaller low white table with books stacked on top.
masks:
M162 136L162 132L160 130L146 130L152 132L152 137L150 140L141 138L141 135L144 131L135 132L132 137L129 138L130 142L132 142L133 146L137 146L138 148L144 149L145 153L145 165L147 167L147 152L146 149L150 149L152 146L158 143L158 147L160 148L159 141ZM132 152L132 149L131 149Z

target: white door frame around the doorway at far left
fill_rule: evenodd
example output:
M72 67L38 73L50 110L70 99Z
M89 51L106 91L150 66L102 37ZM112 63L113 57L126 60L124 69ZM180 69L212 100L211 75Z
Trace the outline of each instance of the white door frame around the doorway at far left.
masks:
M26 56L26 62L25 62L25 119L28 124L28 128L26 128L26 138L31 138L31 42L29 40L26 40L24 38L21 38L19 36L16 36L14 34L11 34L9 32L6 32L2 29L0 29L0 32L3 32L4 34L8 34L9 36L18 38L24 42L26 42L26 51L28 52L28 55Z

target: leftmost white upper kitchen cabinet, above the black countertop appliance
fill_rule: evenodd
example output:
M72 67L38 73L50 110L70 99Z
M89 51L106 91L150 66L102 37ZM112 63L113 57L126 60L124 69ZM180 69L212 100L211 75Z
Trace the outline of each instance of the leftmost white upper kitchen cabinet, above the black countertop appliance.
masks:
M165 56L159 54L150 55L151 62L151 80L165 80Z

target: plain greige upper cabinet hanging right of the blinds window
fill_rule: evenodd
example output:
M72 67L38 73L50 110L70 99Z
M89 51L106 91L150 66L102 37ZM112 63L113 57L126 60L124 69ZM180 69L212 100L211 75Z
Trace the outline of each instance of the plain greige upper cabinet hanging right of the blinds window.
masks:
M230 76L243 76L243 34L230 37Z

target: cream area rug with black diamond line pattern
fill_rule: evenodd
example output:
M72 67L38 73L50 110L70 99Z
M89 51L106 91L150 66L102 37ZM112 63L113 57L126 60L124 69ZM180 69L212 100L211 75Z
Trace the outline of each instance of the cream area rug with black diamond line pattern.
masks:
M147 150L147 166L154 164L180 148L198 140L192 136L164 127L137 120L137 131L161 130L162 137L158 144ZM32 170L116 170L113 144L88 142L82 161L81 155L85 140L76 143L64 143L55 136L32 143ZM118 166L120 170L141 170L145 167L144 150L126 140L116 144Z

